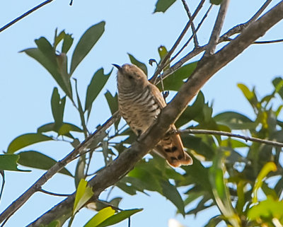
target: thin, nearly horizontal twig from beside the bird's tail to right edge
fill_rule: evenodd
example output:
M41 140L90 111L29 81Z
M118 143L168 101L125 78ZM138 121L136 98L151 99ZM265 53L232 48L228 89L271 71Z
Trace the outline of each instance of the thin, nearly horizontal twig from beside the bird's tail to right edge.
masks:
M250 136L243 136L240 134L233 134L231 132L223 132L223 131L214 131L214 130L207 130L207 129L184 129L178 130L178 133L188 133L188 134L209 134L209 135L218 135L218 136L229 136L229 137L236 137L239 139L243 139L245 141L253 141L261 144L268 144L272 146L279 146L283 147L283 143L277 141L270 141L268 139L259 139Z

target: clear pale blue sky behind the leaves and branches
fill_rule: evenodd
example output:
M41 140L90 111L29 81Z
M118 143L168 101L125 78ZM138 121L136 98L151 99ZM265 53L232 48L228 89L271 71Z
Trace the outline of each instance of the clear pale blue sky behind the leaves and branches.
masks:
M194 1L192 4L197 2ZM231 0L223 31L248 20L263 2L262 0ZM274 1L271 6L277 2L279 1ZM39 3L35 0L4 1L0 8L0 25L8 23ZM105 33L74 73L74 77L79 81L79 93L81 97L84 97L91 76L100 67L108 72L112 69L112 63L129 62L127 53L147 63L149 59L158 59L157 48L160 45L165 45L168 49L173 45L187 22L187 15L181 1L177 1L166 13L153 14L155 3L156 1L149 0L74 0L73 6L69 6L69 1L57 0L0 33L1 151L5 151L16 136L36 132L37 127L52 121L50 97L56 83L40 64L19 51L35 47L34 40L40 36L45 36L52 41L55 28L72 33L74 43L76 43L87 28L100 21L105 21ZM195 5L189 6L193 11ZM204 8L207 8L207 4ZM198 33L200 45L204 45L209 38L217 10L218 7L215 6ZM197 21L202 15L197 17ZM262 40L280 39L283 37L282 31L283 23L281 22L265 34ZM190 48L191 46L187 51ZM224 110L234 110L253 117L253 110L243 98L236 84L245 83L249 88L255 86L258 94L262 96L272 91L272 78L282 76L282 50L282 43L252 45L213 76L202 91L206 100L213 103L214 114ZM149 65L148 67L151 76L154 67ZM106 88L111 93L115 93L114 73ZM79 124L79 115L74 112L70 104L67 105L66 112L67 116L64 119L66 122ZM110 117L110 111L105 98L101 95L93 105L89 128L93 131L108 117ZM37 144L33 146L33 149L60 159L69 153L71 147L63 142L48 142L44 145ZM68 165L68 168L69 170L74 169L74 164ZM32 173L7 172L0 210L5 209L42 173L41 170L33 170ZM74 183L69 177L56 175L54 179L47 182L44 188L52 192L71 193L74 192ZM112 197L115 195L125 194L116 190L112 193ZM144 208L144 211L132 218L132 226L141 227L144 224L167 226L168 219L175 217L175 207L171 202L166 201L157 193L150 193L150 195L150 197L144 194L134 197L125 195L125 199L120 204L123 209ZM25 226L59 201L60 198L37 193L22 209L16 212L6 226ZM177 216L177 219L185 226L202 226L206 219L214 214L213 212L205 211L196 219L193 216L187 216L185 220ZM84 209L75 219L74 226L83 226L83 223L86 223L91 216L93 216L93 211ZM119 226L127 226L127 223Z

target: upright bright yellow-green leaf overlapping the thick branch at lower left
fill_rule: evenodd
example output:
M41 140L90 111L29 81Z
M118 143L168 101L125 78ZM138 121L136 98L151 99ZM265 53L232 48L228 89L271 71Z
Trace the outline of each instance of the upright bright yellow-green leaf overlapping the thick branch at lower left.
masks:
M73 215L76 214L83 205L88 202L88 199L91 199L93 196L93 190L88 186L88 182L84 179L81 179L79 186L76 189L76 197L74 202Z

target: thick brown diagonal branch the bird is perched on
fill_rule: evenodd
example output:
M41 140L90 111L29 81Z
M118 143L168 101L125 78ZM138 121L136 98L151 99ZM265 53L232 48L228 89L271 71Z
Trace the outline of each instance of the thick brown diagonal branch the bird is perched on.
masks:
M219 69L231 62L238 54L241 54L243 50L264 35L267 30L272 28L272 26L282 20L282 18L283 1L280 1L277 6L265 13L258 21L252 23L241 35L238 35L235 40L232 40L228 45L219 50L219 52L216 52L216 54L207 57L207 59L202 62L202 65L197 67L195 73L192 74L187 82L180 88L180 91L175 95L171 103L162 110L156 124L150 127L145 134L141 135L139 141L135 141L130 149L122 152L115 161L100 170L100 172L88 182L88 185L93 187L95 196L98 197L100 192L110 185L114 185L115 182L129 173L129 171L134 168L137 161L149 150L154 148L155 144L166 134L170 125L178 119L190 100L197 95L200 88L202 88L209 78L219 71ZM40 219L37 219L37 221L35 221L36 225L32 223L30 226L47 224L54 219L58 219L62 216L62 211L71 210L73 203L74 195L71 195L63 202L57 204L57 206L54 206L52 210L47 211ZM68 215L69 213L65 214Z

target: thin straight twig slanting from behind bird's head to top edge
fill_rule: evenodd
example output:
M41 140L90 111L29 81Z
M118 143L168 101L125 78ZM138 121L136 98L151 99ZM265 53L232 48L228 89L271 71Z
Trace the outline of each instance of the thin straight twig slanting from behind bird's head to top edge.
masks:
M173 54L173 52L175 51L175 49L178 47L178 45L180 44L181 40L183 39L185 33L187 33L187 30L190 28L190 25L192 24L192 21L195 19L195 17L197 16L197 13L200 12L200 9L202 8L203 4L204 4L205 0L200 1L200 4L197 6L195 13L192 14L192 17L190 19L189 22L187 22L187 24L185 25L185 28L183 29L182 33L179 35L178 39L176 40L176 42L174 43L173 47L171 48L171 50L166 54L166 56L162 59L161 63L159 64L159 66L156 69L156 72L154 73L154 76L152 76L152 78L149 80L151 83L155 84L156 78L157 76L161 73L161 71L163 70L164 66L167 64L167 61L170 59L171 55Z

